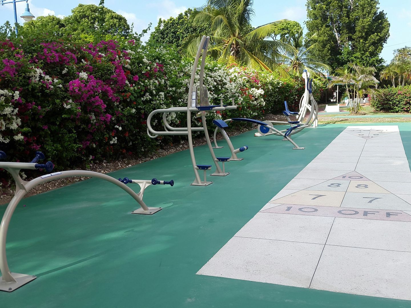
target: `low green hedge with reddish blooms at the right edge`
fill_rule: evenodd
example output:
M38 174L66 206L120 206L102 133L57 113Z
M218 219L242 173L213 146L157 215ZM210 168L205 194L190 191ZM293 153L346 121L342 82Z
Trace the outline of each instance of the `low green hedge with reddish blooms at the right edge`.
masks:
M383 88L371 96L370 105L377 111L411 112L411 85Z

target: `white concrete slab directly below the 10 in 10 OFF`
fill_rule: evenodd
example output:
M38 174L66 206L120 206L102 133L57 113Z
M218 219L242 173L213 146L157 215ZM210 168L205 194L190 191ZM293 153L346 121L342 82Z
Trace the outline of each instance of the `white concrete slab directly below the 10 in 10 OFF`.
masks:
M326 244L332 221L334 217L259 212L235 236Z

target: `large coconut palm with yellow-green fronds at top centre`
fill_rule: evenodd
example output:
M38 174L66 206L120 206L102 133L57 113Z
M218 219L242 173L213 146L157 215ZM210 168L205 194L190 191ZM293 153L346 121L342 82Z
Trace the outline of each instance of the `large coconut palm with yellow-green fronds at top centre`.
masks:
M254 69L278 71L286 75L277 64L280 41L266 39L275 32L278 22L267 23L255 29L250 21L254 16L253 0L208 0L207 5L193 12L194 24L210 26L210 47L208 53L224 64L238 63ZM188 55L194 55L201 36L190 37L184 48Z

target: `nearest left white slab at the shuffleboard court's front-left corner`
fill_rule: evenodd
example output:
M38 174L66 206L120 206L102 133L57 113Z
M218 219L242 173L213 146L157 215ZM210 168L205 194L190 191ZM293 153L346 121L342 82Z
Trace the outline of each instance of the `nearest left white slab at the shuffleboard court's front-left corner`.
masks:
M233 237L197 274L307 288L323 247Z

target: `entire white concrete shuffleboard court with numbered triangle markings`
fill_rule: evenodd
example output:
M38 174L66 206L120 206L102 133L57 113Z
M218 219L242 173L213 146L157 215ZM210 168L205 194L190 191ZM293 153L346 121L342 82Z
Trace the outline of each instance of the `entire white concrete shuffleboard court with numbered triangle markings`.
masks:
M411 300L398 126L348 126L197 274Z

